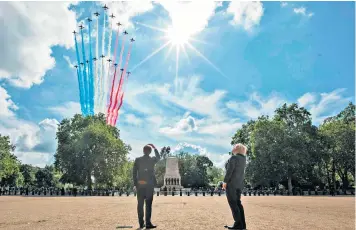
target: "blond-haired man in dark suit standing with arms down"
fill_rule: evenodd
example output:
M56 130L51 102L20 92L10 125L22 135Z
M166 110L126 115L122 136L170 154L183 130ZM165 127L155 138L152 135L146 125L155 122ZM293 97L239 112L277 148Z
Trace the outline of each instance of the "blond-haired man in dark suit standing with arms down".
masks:
M244 188L244 176L246 167L246 146L237 144L232 150L232 156L227 161L226 175L223 188L226 190L227 201L229 202L233 226L225 226L228 229L246 229L244 208L241 204L241 193Z

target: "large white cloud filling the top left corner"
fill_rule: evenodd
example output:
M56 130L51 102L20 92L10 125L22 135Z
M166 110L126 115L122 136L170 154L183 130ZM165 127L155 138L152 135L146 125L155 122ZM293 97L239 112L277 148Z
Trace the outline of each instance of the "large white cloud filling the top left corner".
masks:
M55 66L51 47L71 48L76 14L69 2L0 3L0 79L29 88ZM25 26L24 26L25 25ZM21 29L19 29L21 28Z

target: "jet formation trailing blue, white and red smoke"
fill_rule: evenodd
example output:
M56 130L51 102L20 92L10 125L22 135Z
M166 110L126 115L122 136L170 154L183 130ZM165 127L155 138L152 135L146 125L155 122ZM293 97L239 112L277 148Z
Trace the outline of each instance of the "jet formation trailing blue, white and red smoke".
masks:
M129 39L129 47L126 49L125 41L129 33L126 30L120 31L122 24L114 22L116 16L107 13L109 7L106 4L102 9L102 12L93 14L96 25L94 20L88 17L86 26L84 24L78 26L80 32L73 31L77 59L74 67L77 71L82 114L88 116L104 113L107 124L115 126L123 104L127 80L131 74L127 69L135 39ZM102 26L99 26L99 20L103 20ZM117 28L114 28L114 25ZM92 26L96 32L94 34L92 34ZM106 26L109 33L106 31ZM99 30L102 32L101 36ZM115 30L116 38L113 38ZM85 35L88 35L89 42L84 41ZM81 44L77 37L81 39ZM117 74L118 72L120 74Z

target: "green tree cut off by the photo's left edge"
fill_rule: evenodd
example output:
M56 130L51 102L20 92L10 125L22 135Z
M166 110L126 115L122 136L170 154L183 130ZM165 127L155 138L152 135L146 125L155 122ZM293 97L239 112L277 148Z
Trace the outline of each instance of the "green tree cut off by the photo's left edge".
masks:
M1 185L20 186L23 177L20 173L20 162L12 153L15 146L8 136L0 134L0 183Z

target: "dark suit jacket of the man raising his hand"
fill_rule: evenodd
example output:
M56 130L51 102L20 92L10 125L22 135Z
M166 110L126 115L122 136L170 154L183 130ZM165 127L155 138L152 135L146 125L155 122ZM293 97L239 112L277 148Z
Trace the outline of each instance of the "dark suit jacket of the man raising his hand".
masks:
M139 181L144 181L147 185L156 186L157 180L155 176L155 164L160 160L160 155L157 149L154 150L154 157L142 156L135 159L133 166L133 181L137 186Z

